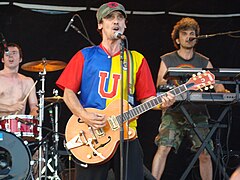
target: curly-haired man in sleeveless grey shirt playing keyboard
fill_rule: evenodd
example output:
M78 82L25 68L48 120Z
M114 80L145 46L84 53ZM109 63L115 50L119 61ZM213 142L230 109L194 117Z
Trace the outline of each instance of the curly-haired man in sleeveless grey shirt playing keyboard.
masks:
M200 33L198 23L192 18L183 18L176 23L173 28L171 37L176 47L176 51L161 56L161 64L158 71L157 87L170 85L180 85L185 82L168 81L163 78L169 67L178 68L212 68L209 59L200 53L195 52L197 37ZM226 92L222 84L215 85L216 92ZM185 103L184 107L188 110L195 124L205 124L208 122L208 112L206 105ZM175 152L182 142L183 137L189 135L193 146L192 150L196 151L201 146L201 141L189 128L186 117L180 110L179 106L169 108L162 116L162 122L159 127L159 134L156 137L158 150L155 154L152 164L152 174L156 179L160 179L165 168L165 163L170 150ZM199 131L203 136L208 133L208 128L200 128ZM212 142L209 143L212 147ZM213 148L213 147L212 147ZM212 162L211 157L206 150L202 151L199 156L200 175L204 180L212 179Z

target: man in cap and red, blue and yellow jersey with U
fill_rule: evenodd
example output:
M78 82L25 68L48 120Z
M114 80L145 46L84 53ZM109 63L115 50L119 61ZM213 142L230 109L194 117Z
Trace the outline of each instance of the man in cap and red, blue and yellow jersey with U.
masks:
M126 66L123 67L121 77L120 42L126 28L127 14L125 8L117 2L103 4L97 11L98 31L102 36L102 42L98 46L84 48L78 51L59 77L57 85L64 90L64 101L71 112L79 117L89 128L104 128L108 123L105 114L93 113L85 108L103 110L117 99L121 98L121 79L123 79L123 98L126 101L140 103L146 102L156 95L155 86L149 66L144 56L136 51L130 53L130 82L126 76ZM125 50L126 52L128 50ZM126 58L124 58L126 59ZM124 62L126 64L126 62ZM129 88L127 87L129 84ZM80 91L79 97L76 93ZM128 94L129 92L129 94ZM132 95L132 96L131 96ZM128 97L131 98L128 99ZM134 98L134 99L133 99ZM162 108L173 104L174 98L171 94L162 99ZM118 109L121 106L117 106ZM157 107L156 107L157 109ZM158 108L159 109L159 108ZM113 109L109 109L113 111ZM136 120L129 125L136 131ZM76 132L78 133L78 132ZM98 137L99 138L99 137ZM105 145L98 143L94 148L104 148L112 143L112 138ZM89 139L87 139L89 141ZM128 146L126 146L128 144ZM128 151L126 151L128 147ZM106 149L108 151L109 149ZM89 152L89 160L91 159ZM143 180L143 157L139 140L124 142L124 172L128 180ZM127 162L125 162L127 160ZM108 170L113 169L115 179L120 179L120 153L119 147L111 159L102 164L76 163L76 179L93 180L107 179ZM127 171L126 171L127 168ZM124 178L125 179L125 178Z

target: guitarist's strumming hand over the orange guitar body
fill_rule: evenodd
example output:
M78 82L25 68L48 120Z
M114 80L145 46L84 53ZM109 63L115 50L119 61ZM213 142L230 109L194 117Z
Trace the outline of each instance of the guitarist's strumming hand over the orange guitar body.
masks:
M80 119L94 129L103 128L106 125L104 114L82 111Z

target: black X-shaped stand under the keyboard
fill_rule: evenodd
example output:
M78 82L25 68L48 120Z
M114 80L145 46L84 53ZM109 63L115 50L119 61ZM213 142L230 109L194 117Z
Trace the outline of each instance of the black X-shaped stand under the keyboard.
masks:
M196 135L198 136L198 138L201 140L202 145L200 146L200 148L198 149L197 153L194 155L191 163L188 165L187 169L185 170L185 172L183 173L183 175L181 176L180 180L185 180L187 175L189 174L189 172L191 171L192 167L194 166L194 164L196 163L198 157L200 156L201 152L206 148L208 153L210 154L210 156L212 157L213 161L215 162L216 166L218 166L219 170L221 171L222 175L225 177L226 180L229 179L228 174L226 173L226 169L225 167L223 167L221 165L221 163L218 163L217 157L215 156L215 154L213 153L212 149L208 146L208 141L211 140L212 135L214 134L214 132L217 130L217 128L221 127L220 122L222 121L222 119L224 118L224 116L227 114L227 112L229 112L231 106L226 106L224 108L224 110L222 111L222 113L220 114L220 116L217 119L217 122L212 126L211 130L209 131L209 133L207 134L206 138L204 139L201 135L201 133L198 130L197 125L193 122L191 116L189 115L189 113L187 112L187 110L181 105L180 109L182 110L182 112L184 113L184 115L186 116L188 122L190 123L191 127L193 127L194 132L196 133Z

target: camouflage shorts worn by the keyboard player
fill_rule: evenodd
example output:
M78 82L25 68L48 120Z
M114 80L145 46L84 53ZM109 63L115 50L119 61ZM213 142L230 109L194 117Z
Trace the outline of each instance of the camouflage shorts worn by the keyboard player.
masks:
M208 118L205 115L191 115L193 122L197 125L198 131L203 138L209 132ZM196 151L202 144L193 128L190 127L189 122L181 112L165 113L162 117L162 123L159 127L159 134L155 138L157 146L170 146L178 151L178 148L185 136L188 136L192 141L191 149ZM208 143L213 149L212 141Z

